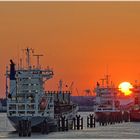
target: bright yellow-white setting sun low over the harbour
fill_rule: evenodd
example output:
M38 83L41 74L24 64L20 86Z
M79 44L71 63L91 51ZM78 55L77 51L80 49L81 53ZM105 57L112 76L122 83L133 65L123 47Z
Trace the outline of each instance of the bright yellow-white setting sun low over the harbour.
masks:
M129 82L122 82L119 84L119 90L126 96L132 93L132 91L130 90L132 87L133 86Z

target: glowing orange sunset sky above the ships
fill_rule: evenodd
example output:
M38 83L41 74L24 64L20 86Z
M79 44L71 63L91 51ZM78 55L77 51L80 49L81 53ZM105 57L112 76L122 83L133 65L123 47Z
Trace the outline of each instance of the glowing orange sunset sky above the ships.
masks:
M108 72L118 85L140 80L140 2L0 2L0 97L5 67L30 46L80 93ZM75 93L76 94L76 93Z

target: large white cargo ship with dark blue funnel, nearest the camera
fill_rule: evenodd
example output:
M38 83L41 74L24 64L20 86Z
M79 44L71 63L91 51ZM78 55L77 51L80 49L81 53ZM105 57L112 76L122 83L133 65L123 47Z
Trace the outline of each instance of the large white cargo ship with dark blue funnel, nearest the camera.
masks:
M65 115L72 118L78 111L77 105L70 101L71 92L45 91L44 84L53 77L53 70L41 69L39 56L37 66L31 65L33 49L27 48L26 67L16 68L10 60L10 70L6 69L7 117L19 136L31 136L32 131L44 133L49 128L57 129L58 119Z

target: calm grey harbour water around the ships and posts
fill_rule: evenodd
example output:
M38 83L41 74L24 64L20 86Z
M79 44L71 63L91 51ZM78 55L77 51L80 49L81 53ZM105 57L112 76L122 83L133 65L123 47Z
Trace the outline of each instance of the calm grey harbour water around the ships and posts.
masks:
M52 132L49 134L42 135L41 133L32 133L33 139L76 139L76 138L112 138L112 139L140 139L140 122L123 122L121 124L99 126L98 123L96 128L86 127L86 117L90 112L79 112L84 119L83 130L69 130L68 132ZM1 139L19 139L18 134L12 127L11 123L6 118L6 113L0 113L0 138ZM22 137L24 138L24 137Z

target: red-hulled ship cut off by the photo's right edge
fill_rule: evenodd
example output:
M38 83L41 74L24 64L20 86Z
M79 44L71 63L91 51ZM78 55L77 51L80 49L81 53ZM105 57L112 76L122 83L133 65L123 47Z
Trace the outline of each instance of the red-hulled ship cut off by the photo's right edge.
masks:
M140 86L134 85L132 92L134 94L134 105L130 109L130 121L140 122Z

